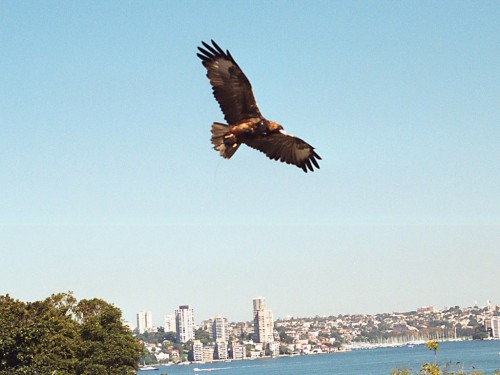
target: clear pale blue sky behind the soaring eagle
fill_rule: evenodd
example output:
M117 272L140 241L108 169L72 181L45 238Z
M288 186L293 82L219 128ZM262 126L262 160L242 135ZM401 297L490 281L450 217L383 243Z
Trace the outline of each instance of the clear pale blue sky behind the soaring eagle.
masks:
M498 1L2 1L0 294L157 324L500 304ZM211 149L231 51L321 169Z

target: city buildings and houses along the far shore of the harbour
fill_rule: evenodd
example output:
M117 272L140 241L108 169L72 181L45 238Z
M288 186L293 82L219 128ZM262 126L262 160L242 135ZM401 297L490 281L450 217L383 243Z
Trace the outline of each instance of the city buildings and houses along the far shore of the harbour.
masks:
M160 353L161 358L173 363L413 346L429 340L500 338L500 305L493 305L491 301L487 301L484 307L450 306L439 310L434 306L424 306L409 312L376 315L287 317L269 322L272 332L269 336L267 325L261 325L261 320L265 320L261 318L267 314L259 317L266 310L265 298L258 297L253 299L253 322L228 323L221 316L204 320L197 327L204 333L200 332L197 339L185 344L182 358L171 335L160 331L139 338L144 340L152 356L158 359Z

